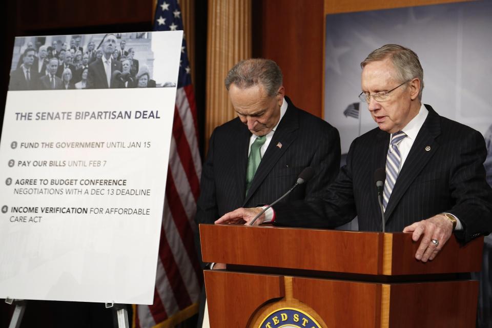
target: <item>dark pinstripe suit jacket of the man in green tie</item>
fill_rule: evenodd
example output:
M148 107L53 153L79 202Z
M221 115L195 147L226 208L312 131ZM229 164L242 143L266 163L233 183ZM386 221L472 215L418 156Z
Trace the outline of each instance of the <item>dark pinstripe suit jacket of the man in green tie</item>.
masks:
M248 195L245 183L251 132L239 118L214 130L201 174L197 223L213 223L239 207L272 203L294 185L308 166L315 169L314 177L283 202L319 195L335 179L340 167L337 129L285 99L287 111L261 159ZM281 147L277 146L279 143Z

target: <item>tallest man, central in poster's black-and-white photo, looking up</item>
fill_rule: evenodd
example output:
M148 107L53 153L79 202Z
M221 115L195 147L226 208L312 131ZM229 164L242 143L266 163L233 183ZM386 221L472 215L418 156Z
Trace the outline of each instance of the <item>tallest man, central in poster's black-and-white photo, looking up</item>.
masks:
M113 73L122 70L121 63L111 56L116 49L116 36L107 34L101 48L103 49L103 57L89 65L87 89L114 88L111 86Z

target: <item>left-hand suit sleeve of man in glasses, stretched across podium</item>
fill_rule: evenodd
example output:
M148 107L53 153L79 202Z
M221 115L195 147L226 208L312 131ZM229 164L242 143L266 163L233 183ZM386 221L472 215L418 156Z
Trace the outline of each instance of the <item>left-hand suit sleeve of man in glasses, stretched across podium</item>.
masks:
M357 139L352 142L348 151L347 165L340 169L336 180L329 187L320 186L323 190L309 195L304 201L274 207L277 226L336 228L354 219L357 212L352 182L352 157L356 141Z

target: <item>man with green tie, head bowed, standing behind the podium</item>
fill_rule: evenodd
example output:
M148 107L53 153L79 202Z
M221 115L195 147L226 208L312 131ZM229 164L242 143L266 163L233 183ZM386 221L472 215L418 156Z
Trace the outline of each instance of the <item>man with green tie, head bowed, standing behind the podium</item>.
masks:
M284 97L282 72L274 61L240 61L229 71L226 88L238 117L216 128L210 139L197 223L213 223L241 206L272 203L306 167L314 169L314 177L283 203L319 195L335 179L340 166L338 131ZM213 269L222 267L217 263Z

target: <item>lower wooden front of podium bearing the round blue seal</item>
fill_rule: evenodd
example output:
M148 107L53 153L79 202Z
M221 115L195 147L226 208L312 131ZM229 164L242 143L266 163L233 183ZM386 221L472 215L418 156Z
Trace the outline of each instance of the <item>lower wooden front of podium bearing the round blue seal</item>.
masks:
M290 310L320 328L472 327L478 297L473 280L377 283L207 270L205 285L213 328L280 327Z

